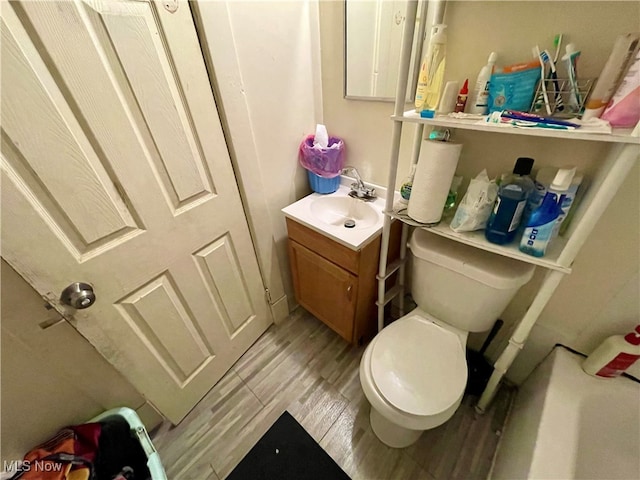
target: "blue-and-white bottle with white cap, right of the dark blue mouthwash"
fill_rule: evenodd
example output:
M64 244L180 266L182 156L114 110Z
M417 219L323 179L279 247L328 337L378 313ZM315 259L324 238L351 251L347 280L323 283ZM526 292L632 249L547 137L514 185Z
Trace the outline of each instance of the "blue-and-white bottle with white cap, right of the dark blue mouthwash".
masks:
M520 240L521 252L534 257L544 256L552 240L556 221L562 213L562 202L575 173L575 168L558 170L542 200L542 205L531 214L525 226Z

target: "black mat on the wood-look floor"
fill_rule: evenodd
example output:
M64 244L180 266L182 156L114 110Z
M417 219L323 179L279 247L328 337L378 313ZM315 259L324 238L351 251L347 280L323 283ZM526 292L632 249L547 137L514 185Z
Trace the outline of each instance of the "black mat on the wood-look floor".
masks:
M349 480L302 426L284 412L227 480Z

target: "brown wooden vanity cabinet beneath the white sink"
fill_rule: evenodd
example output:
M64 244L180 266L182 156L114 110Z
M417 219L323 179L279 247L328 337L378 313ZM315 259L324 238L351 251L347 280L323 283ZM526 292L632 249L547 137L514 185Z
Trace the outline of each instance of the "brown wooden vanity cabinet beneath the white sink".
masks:
M363 344L373 338L377 332L381 235L356 251L290 218L286 220L298 303L350 343ZM389 262L399 254L400 231L400 222L394 222Z

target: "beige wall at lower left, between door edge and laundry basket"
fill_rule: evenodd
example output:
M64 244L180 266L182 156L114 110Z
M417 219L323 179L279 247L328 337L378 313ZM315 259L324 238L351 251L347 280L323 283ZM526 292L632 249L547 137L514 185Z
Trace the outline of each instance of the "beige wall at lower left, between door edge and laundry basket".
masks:
M137 409L148 429L161 422L142 395L55 310L46 309L4 259L0 275L0 462L20 460L64 426L110 408Z

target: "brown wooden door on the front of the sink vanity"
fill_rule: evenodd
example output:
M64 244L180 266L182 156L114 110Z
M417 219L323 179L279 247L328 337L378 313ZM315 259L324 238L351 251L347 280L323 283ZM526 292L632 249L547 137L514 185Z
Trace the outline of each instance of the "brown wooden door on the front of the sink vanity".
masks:
M296 300L345 340L353 340L358 277L289 240Z

